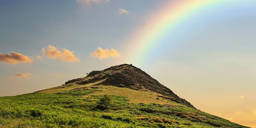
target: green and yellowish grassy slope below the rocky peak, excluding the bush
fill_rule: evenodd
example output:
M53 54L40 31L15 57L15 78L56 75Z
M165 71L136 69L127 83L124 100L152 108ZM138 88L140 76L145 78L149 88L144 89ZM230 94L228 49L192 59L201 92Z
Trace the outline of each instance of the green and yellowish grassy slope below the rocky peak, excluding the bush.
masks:
M0 97L0 127L244 127L165 98L157 100L159 94L150 91L97 83L62 87ZM84 90L72 90L78 88ZM114 98L111 109L97 108L103 94Z

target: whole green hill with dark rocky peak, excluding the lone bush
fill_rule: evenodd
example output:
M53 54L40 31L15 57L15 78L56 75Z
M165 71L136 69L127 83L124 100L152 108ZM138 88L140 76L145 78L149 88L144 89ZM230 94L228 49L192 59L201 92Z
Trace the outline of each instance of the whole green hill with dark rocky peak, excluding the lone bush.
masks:
M113 98L109 109L97 105L104 94ZM246 128L197 110L127 64L51 89L0 97L0 127Z

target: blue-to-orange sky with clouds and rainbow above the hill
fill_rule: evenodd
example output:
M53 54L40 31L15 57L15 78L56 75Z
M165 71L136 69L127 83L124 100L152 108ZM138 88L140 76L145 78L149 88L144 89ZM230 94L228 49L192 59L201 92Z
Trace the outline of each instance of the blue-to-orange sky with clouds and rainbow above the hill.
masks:
M255 5L1 0L0 96L131 63L197 109L256 128Z

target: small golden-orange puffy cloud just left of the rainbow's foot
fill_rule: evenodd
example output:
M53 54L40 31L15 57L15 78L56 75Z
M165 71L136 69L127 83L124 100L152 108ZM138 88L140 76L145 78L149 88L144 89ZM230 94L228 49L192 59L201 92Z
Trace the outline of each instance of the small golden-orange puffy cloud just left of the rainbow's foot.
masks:
M121 54L118 53L115 49L102 49L101 47L98 47L93 53L91 53L93 57L97 57L99 59L109 58L109 57L121 57Z

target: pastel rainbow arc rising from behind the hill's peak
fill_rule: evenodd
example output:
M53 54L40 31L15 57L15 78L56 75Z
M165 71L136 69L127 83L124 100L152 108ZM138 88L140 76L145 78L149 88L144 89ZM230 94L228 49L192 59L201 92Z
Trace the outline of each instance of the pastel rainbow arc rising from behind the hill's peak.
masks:
M140 63L152 51L160 39L179 22L186 20L190 15L208 7L218 6L230 0L173 0L167 1L165 7L158 13L152 14L147 21L149 25L143 29L135 30L127 43L133 46L129 51L129 62ZM132 42L132 44L131 44Z

